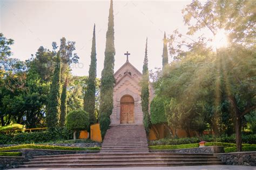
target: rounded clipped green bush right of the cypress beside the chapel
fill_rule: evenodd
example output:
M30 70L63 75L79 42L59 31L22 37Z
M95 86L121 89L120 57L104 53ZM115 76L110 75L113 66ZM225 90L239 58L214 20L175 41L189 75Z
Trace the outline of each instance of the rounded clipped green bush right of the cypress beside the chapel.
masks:
M165 99L154 97L150 104L150 118L152 124L167 123L167 118L164 110Z

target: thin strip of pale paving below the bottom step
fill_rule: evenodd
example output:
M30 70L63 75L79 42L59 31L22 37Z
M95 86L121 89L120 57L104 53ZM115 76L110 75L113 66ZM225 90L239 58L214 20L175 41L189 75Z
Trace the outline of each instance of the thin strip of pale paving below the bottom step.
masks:
M129 168L19 168L11 170L256 170L255 166L209 165L209 166L179 166L179 167L129 167Z

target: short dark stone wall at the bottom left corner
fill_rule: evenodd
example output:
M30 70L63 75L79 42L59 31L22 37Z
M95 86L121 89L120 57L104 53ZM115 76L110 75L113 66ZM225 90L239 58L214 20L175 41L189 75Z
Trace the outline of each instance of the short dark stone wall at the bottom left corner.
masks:
M0 156L0 169L17 168L24 160L24 157Z

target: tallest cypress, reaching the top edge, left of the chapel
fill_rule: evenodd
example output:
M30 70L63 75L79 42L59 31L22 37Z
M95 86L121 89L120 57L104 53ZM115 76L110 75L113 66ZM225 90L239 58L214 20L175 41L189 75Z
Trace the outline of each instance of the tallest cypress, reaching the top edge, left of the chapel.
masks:
M110 125L110 115L113 109L113 88L114 88L114 15L113 1L110 2L109 24L106 32L106 48L104 68L102 70L100 86L99 123L102 137Z

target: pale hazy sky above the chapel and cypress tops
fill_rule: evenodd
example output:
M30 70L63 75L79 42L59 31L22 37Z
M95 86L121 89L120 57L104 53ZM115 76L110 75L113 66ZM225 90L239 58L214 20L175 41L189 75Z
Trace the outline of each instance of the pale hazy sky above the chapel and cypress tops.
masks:
M146 37L149 69L161 67L164 31L186 32L181 10L191 1L113 1L114 70L129 61L142 71ZM5 1L0 0L0 32L15 40L14 58L26 60L39 46L52 49L60 38L76 42L79 63L71 65L75 76L88 75L93 25L96 24L97 77L104 63L110 1Z

